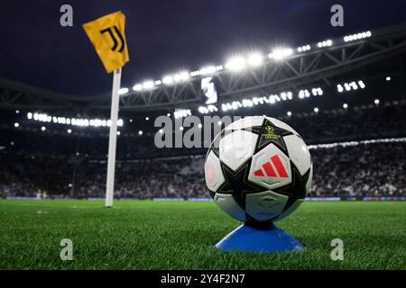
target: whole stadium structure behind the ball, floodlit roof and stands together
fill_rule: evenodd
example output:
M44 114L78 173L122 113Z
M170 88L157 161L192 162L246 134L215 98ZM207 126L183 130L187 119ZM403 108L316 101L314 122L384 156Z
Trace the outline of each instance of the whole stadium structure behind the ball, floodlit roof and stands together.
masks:
M155 117L169 114L173 120L180 111L199 117L266 114L287 122L312 147L309 196L404 196L406 23L358 34L331 39L328 47L319 42L310 50L289 49L286 57L268 57L240 73L224 63L193 68L188 80L177 83L124 87L115 197L208 196L202 175L207 148L153 143ZM218 94L211 111L201 91L207 76ZM109 99L0 79L0 196L103 197ZM104 119L105 125L74 125L78 119ZM398 141L363 142L370 139ZM322 146L343 142L348 145Z

